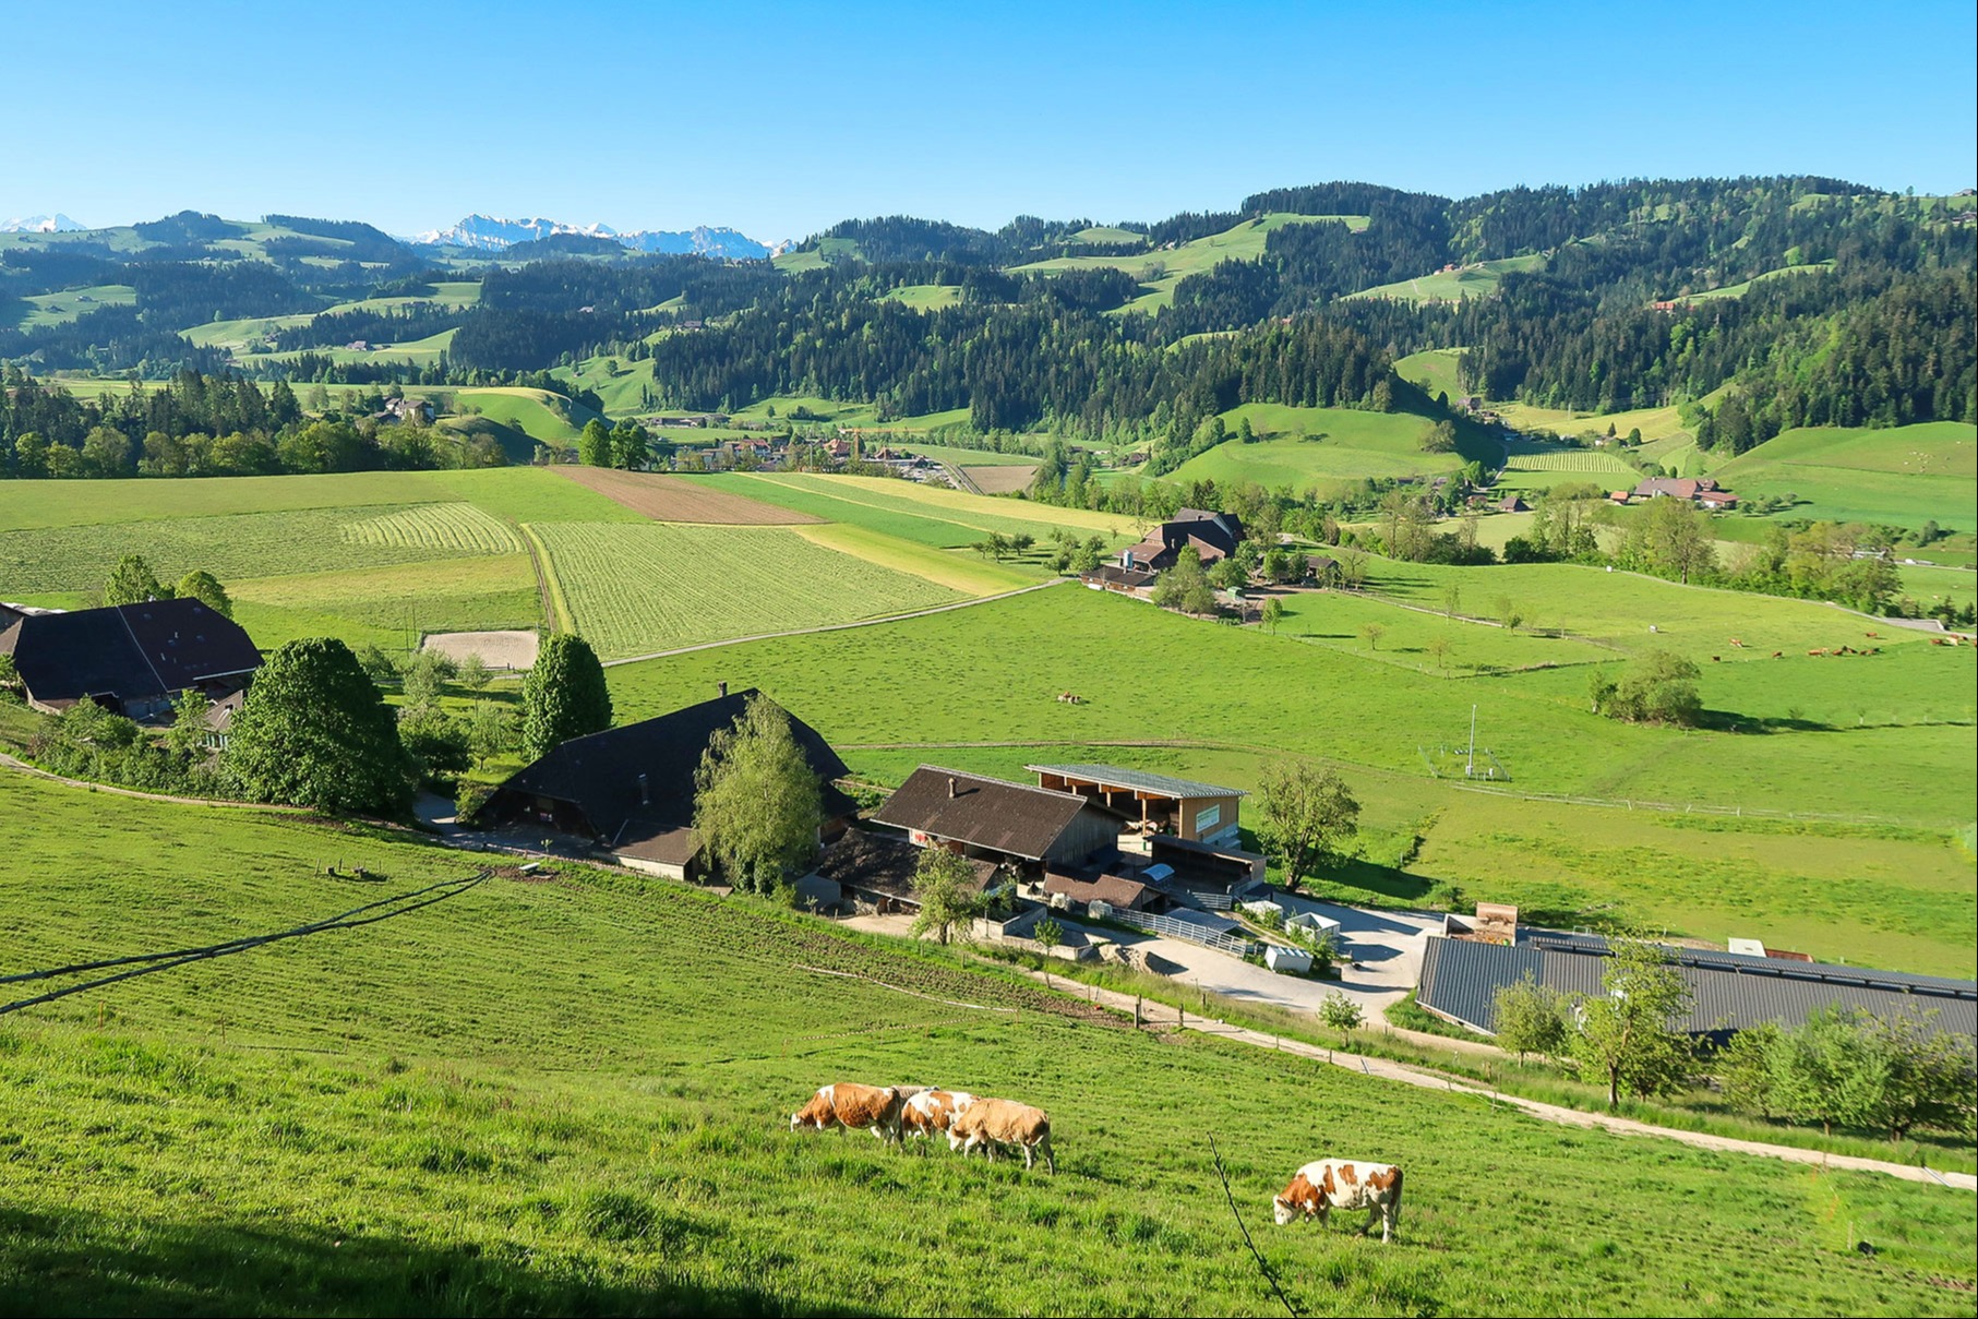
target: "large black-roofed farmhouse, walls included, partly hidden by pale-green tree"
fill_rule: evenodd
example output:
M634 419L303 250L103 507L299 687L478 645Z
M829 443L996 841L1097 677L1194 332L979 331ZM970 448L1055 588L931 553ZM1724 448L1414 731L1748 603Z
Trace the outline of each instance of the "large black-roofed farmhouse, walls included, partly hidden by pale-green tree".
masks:
M595 842L633 870L688 878L694 836L694 769L716 732L742 716L756 690L728 694L587 738L572 738L516 771L489 797L489 825L536 825ZM764 698L767 700L767 698ZM841 835L858 805L833 787L849 773L815 728L791 716L803 757L823 779L823 836Z

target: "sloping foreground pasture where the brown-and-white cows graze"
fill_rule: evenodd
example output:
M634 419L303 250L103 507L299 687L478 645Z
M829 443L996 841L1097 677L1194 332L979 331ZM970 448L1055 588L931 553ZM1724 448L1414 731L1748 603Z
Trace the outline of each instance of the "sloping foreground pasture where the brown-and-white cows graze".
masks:
M0 791L22 807L0 817L8 971L380 896L324 862L402 892L479 860ZM22 815L45 850L6 836ZM837 1078L1034 1101L1058 1175L791 1133ZM1234 1121L1230 1096L1272 1121ZM589 872L508 872L8 1018L0 1277L40 1313L1276 1313L1209 1135L1302 1313L1660 1315L1754 1289L1788 1313L1970 1313L1962 1192L1133 1032L932 949ZM1406 1169L1394 1244L1268 1222L1290 1169L1323 1153ZM825 1220L860 1230L821 1238Z

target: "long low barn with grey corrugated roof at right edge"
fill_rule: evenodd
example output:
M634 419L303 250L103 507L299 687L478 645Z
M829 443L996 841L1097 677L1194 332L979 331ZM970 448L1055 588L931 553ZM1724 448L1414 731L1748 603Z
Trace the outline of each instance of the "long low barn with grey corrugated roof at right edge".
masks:
M1695 1036L1721 1042L1760 1022L1792 1028L1832 1003L1877 1016L1907 1012L1931 1030L1978 1032L1978 983L1972 981L1713 949L1665 951L1691 991L1689 1016L1677 1026ZM1430 935L1414 997L1444 1020L1493 1034L1499 989L1531 977L1561 993L1600 995L1606 957L1606 939L1598 935L1529 927L1519 927L1507 943Z

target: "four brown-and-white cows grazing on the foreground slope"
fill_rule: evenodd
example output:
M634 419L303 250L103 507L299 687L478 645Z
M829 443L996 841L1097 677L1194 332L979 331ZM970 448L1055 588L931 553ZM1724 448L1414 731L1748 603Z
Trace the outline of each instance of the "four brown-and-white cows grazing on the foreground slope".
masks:
M989 1099L961 1090L936 1086L860 1086L833 1082L811 1096L809 1103L789 1115L789 1129L839 1129L839 1135L858 1127L892 1145L906 1145L908 1135L930 1139L945 1135L947 1147L963 1157L979 1149L995 1163L997 1151L1023 1151L1023 1167L1044 1167L1056 1175L1058 1161L1050 1153L1050 1117L1042 1109L1013 1099ZM1381 1240L1393 1240L1400 1220L1400 1169L1393 1163L1365 1159L1319 1159L1292 1175L1292 1183L1272 1196L1272 1216L1278 1226L1300 1218L1327 1224L1331 1210L1367 1210L1361 1236L1381 1224Z

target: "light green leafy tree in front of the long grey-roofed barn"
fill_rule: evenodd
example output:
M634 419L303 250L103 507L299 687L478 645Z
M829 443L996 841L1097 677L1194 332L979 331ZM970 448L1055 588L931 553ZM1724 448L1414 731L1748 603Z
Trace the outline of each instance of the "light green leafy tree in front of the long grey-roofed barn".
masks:
M1580 1028L1571 1048L1580 1076L1606 1086L1612 1109L1624 1094L1681 1090L1695 1068L1695 1048L1673 1024L1689 1011L1689 985L1663 951L1646 939L1610 939L1610 945L1602 993L1580 999Z

